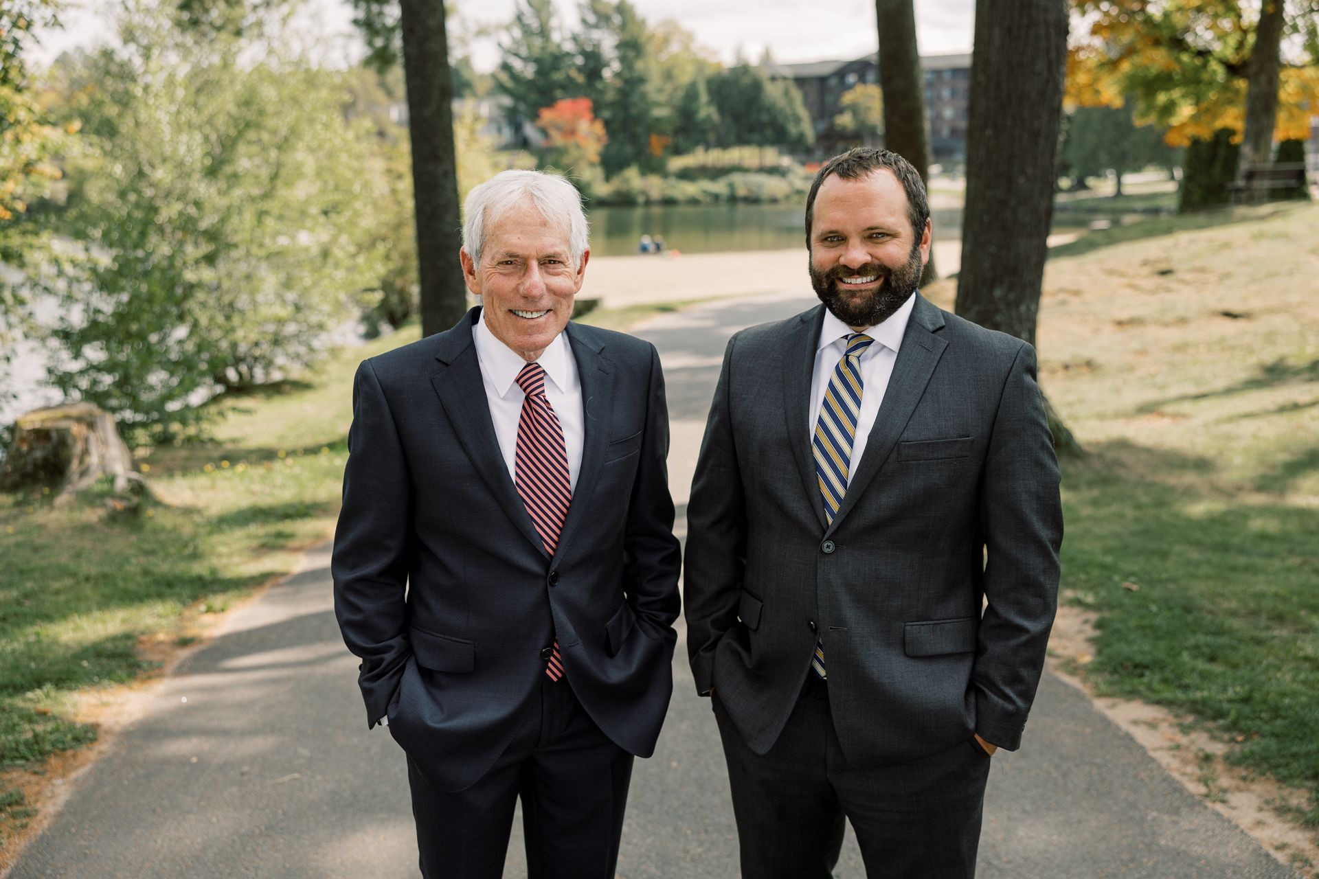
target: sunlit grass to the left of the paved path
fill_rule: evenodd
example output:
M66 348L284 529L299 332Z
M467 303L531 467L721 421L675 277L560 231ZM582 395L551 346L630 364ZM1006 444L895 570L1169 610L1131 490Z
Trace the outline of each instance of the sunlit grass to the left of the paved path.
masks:
M624 328L683 304L583 323ZM0 494L0 854L33 817L20 789L32 772L96 739L80 720L87 696L150 676L332 534L357 362L418 335L405 327L302 380L218 401L214 443L142 457L162 505L116 514L95 493L59 509L42 493Z

